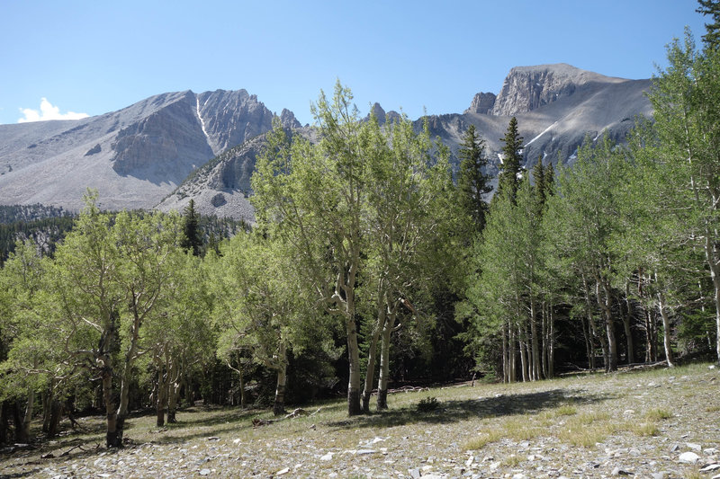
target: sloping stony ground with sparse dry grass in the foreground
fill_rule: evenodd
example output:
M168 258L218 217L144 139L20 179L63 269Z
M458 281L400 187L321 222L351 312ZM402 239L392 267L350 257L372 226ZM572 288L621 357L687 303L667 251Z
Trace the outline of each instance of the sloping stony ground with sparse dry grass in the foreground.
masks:
M134 417L120 450L101 446L101 417L85 418L83 433L5 449L0 477L720 478L720 372L707 364L389 402L354 418L344 401L305 405L255 427L272 416L196 407L160 430Z

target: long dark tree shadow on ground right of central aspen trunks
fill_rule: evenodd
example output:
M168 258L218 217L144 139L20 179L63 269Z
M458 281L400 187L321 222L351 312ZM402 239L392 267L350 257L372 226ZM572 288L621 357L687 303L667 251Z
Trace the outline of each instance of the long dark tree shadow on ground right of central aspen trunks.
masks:
M406 424L440 424L471 419L496 418L517 414L537 413L563 404L597 404L614 399L612 395L590 395L582 391L554 389L521 395L497 395L479 399L445 400L434 411L420 412L417 404L383 412L373 412L343 421L331 421L330 428L391 428Z

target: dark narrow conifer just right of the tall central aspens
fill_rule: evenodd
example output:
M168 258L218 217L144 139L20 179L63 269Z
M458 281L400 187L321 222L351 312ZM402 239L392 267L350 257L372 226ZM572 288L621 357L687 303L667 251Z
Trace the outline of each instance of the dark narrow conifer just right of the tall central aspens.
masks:
M465 131L457 155L461 160L457 176L460 200L465 211L473 218L475 231L482 231L488 211L488 204L483 197L492 191L492 186L490 176L483 173L488 165L485 141L477 135L475 125L470 125Z

